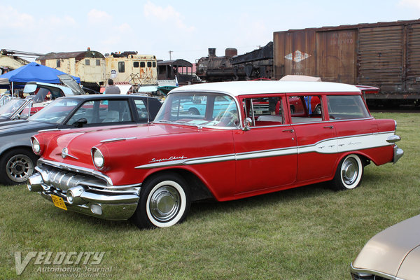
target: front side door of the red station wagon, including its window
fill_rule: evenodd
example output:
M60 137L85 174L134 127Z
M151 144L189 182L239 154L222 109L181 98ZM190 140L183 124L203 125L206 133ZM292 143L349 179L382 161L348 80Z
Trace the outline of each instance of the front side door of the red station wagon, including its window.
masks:
M274 101L274 102L272 102ZM243 99L250 130L234 132L236 194L281 188L296 180L297 148L293 127L285 124L281 95ZM269 110L265 110L265 109Z

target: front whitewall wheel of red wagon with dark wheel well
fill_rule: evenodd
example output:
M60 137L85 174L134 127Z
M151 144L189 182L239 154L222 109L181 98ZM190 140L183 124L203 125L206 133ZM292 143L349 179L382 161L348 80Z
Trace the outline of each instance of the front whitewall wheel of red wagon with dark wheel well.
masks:
M181 176L158 174L141 186L132 221L139 228L167 228L185 220L190 204L190 189Z

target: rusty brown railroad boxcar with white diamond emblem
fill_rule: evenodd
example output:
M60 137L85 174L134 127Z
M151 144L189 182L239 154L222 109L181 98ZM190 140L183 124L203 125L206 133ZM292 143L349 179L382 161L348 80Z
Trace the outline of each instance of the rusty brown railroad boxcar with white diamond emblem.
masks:
M274 78L318 76L323 81L379 87L368 104L420 101L420 20L274 32Z

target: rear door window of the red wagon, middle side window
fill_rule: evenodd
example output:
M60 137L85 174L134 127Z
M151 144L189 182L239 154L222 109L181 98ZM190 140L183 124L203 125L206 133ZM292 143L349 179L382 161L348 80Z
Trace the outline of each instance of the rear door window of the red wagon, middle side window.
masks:
M321 96L289 96L288 106L292 123L314 123L323 120Z

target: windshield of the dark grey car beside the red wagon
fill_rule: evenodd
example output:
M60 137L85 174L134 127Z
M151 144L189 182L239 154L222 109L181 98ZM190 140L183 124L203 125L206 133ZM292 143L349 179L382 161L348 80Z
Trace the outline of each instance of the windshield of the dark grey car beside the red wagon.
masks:
M34 116L29 117L29 120L36 120L41 123L62 123L78 103L75 99L57 99L38 111Z

